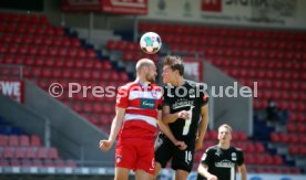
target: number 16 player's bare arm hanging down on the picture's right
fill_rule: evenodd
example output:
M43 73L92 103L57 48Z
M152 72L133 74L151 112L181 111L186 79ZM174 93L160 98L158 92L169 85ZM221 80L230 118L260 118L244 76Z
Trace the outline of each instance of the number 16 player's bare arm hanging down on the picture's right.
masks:
M197 127L197 139L195 142L195 150L198 150L203 147L203 140L208 126L208 104L201 107L201 121Z

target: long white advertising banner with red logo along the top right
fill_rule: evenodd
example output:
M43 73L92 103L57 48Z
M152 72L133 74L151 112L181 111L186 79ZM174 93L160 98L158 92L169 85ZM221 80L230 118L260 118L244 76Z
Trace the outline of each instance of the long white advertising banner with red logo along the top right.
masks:
M149 0L141 19L306 29L305 0Z

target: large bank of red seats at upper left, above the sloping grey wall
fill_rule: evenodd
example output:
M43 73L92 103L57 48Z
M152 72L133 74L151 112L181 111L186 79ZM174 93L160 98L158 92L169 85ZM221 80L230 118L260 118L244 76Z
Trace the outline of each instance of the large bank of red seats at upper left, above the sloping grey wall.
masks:
M12 18L14 21L11 21ZM116 88L129 81L125 72L116 71L110 61L101 60L93 49L82 45L78 38L67 34L63 28L50 24L45 17L1 13L0 20L1 63L23 65L24 77L45 91L53 82L61 82L64 86L73 82L92 88L110 85ZM126 46L121 42L116 47L132 50L135 45ZM95 118L101 121L99 116L102 114L114 115L114 110L110 109L114 108L114 97L76 96L59 99L75 108L75 112L85 114L89 120ZM109 103L104 105L104 102ZM101 123L96 125L109 128Z

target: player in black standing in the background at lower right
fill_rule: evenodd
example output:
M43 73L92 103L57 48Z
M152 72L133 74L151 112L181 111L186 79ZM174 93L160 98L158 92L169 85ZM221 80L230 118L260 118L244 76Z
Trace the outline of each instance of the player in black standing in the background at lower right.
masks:
M241 179L246 180L246 167L242 149L231 146L232 128L218 127L218 145L206 149L197 169L197 180L235 180L238 167Z

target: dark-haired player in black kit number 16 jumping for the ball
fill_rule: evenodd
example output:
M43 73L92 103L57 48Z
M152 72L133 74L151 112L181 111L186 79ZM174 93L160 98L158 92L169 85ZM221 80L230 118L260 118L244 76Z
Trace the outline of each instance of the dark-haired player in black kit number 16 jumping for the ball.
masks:
M180 150L169 138L160 134L155 142L155 177L172 158L176 180L185 180L193 167L194 151L201 149L208 124L208 97L204 85L184 80L183 61L166 56L163 62L163 120L177 140L187 148Z

